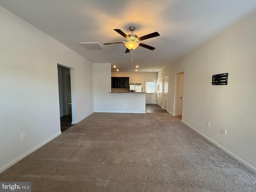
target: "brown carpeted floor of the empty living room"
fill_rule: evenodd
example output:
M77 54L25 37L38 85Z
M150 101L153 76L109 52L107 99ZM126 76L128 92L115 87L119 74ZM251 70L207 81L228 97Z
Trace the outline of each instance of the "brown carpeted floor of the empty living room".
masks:
M0 174L33 192L255 192L256 173L168 113L94 113Z

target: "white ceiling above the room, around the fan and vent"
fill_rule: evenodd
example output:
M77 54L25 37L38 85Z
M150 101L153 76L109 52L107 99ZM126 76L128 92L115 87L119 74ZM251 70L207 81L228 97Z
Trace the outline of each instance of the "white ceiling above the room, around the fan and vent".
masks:
M120 72L157 72L256 10L256 0L0 0L0 5L93 63L111 63ZM124 53L125 38L113 29L160 36ZM86 50L79 42L99 42ZM40 45L39 45L40 46ZM122 53L124 56L119 56ZM112 68L114 70L114 68Z

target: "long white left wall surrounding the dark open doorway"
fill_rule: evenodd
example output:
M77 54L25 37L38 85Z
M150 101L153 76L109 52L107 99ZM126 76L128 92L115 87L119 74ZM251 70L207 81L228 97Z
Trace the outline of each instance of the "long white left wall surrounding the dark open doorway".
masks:
M1 172L61 134L57 64L72 68L75 122L93 112L93 78L91 62L2 6L0 29Z

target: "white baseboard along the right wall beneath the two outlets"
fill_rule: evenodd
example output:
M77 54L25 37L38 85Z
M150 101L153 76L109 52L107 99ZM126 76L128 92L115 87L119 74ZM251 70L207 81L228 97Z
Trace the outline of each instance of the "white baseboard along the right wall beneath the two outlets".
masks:
M252 165L250 165L249 163L247 163L246 161L242 160L240 157L236 156L235 154L233 154L232 152L230 152L229 150L227 150L226 148L224 148L223 146L221 146L220 144L218 144L217 142L215 142L214 140L212 140L211 138L209 138L208 136L202 134L200 131L196 130L194 127L190 126L189 124L187 124L186 122L184 122L183 120L181 120L181 122L183 122L184 124L186 124L187 126L189 126L190 128L192 128L194 131L196 131L198 134L202 135L204 138L206 138L208 141L210 141L211 143L213 143L214 145L216 145L218 148L220 148L221 150L223 150L224 152L226 152L227 154L229 154L230 156L232 156L234 159L238 160L240 163L242 163L244 166L246 166L247 168L249 168L250 170L252 170L253 172L256 172L256 168Z

